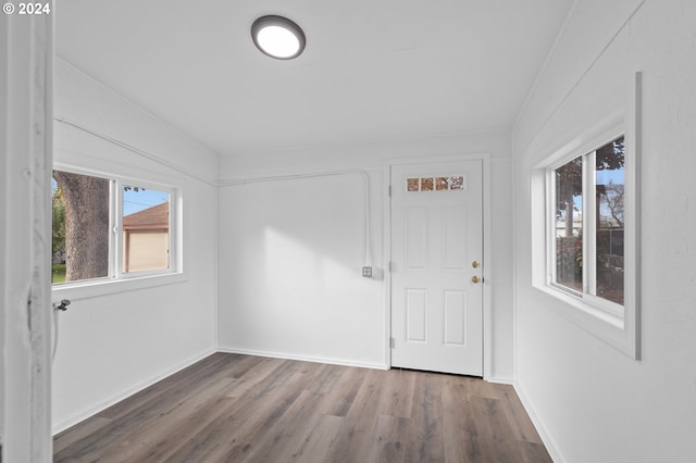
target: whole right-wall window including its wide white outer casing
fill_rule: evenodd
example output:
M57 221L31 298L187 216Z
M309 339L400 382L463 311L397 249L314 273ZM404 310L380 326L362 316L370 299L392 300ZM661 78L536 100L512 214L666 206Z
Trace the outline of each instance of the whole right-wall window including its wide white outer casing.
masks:
M639 359L641 73L630 91L530 172L530 256L544 306Z

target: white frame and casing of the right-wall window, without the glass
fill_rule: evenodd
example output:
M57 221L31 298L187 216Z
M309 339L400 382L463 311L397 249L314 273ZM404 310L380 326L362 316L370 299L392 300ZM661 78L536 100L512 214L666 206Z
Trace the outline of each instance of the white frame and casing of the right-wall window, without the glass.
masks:
M532 193L532 285L537 290L560 302L552 306L557 313L577 324L587 333L619 349L632 359L641 358L641 74L635 76L635 93L624 110L617 111L596 123L581 135L535 166L531 176ZM552 188L549 188L550 175L555 168L580 155L593 153L597 148L624 136L624 304L613 303L604 298L592 296L588 287L583 295L566 287L552 284L556 251L556 201ZM594 189L594 163L584 163L583 185ZM587 203L593 203L588 205ZM583 199L583 218L592 213L594 201ZM551 218L552 217L552 218ZM554 223L551 223L554 222ZM591 230L583 229L583 236ZM594 239L594 238L593 238ZM595 255L583 240L583 255ZM592 259L591 259L592 260ZM587 284L595 263L586 265L583 261L583 284Z

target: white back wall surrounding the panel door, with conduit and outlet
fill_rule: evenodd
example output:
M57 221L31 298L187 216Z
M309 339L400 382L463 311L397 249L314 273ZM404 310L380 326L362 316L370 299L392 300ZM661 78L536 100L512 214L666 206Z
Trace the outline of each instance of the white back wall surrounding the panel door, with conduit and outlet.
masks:
M383 367L387 364L383 163L489 153L493 205L492 379L511 380L512 170L507 130L399 142L307 147L222 157L221 178L346 168L370 175L371 242L380 277L361 277L364 193L359 175L220 188L219 346Z

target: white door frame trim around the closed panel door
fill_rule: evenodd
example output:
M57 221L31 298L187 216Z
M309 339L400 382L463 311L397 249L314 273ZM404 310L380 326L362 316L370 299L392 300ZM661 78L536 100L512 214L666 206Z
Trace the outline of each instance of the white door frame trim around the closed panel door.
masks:
M490 154L455 154L417 158L390 158L384 161L384 224L383 224L383 262L385 266L385 337L384 360L387 368L391 368L391 167L396 165L437 164L445 162L481 161L483 171L483 378L488 380L493 374L493 313L490 304L493 260L490 259Z

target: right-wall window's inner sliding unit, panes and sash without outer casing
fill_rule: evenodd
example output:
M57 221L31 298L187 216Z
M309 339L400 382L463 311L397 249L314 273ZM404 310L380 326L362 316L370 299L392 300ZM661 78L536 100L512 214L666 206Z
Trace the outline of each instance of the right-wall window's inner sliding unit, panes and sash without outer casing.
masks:
M620 314L624 303L624 137L548 170L550 284Z

